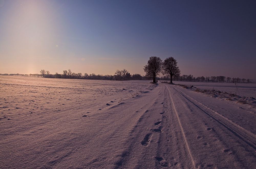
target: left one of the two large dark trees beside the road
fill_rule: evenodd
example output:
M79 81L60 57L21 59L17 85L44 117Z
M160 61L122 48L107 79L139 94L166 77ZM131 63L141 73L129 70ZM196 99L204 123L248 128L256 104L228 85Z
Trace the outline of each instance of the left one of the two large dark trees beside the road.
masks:
M147 65L144 66L144 72L146 76L153 77L153 83L156 82L156 76L161 72L162 60L159 57L152 56L147 61Z

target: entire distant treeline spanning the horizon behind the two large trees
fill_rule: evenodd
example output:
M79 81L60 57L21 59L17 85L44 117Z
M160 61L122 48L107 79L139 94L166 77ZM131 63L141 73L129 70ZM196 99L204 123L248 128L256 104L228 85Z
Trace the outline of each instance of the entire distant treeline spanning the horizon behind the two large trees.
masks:
M91 79L91 80L149 80L151 77L141 76L140 74L131 75L126 69L116 70L114 75L96 75L94 73L87 74L84 73L74 73L70 69L68 71L64 70L63 74L56 72L55 74L50 74L49 71L41 70L40 74L0 74L4 76L30 76L30 77L44 77L44 78L62 78L62 79ZM157 80L170 80L170 76L165 75L162 77L157 77ZM179 77L174 77L175 81L200 81L200 82L228 82L228 83L251 83L252 80L244 78L230 78L225 76L211 76L211 77L194 77L193 75L182 75Z

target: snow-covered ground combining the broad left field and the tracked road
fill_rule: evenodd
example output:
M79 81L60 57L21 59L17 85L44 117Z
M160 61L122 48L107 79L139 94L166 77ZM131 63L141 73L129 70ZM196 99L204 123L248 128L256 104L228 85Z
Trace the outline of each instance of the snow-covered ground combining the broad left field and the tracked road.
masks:
M0 168L255 168L255 106L149 82L0 76Z

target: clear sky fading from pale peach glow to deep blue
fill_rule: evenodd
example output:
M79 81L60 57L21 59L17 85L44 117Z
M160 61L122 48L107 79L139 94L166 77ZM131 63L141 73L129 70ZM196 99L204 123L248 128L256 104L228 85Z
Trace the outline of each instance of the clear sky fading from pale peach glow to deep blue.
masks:
M256 1L0 0L0 73L144 75L151 56L256 79Z

